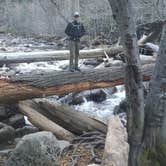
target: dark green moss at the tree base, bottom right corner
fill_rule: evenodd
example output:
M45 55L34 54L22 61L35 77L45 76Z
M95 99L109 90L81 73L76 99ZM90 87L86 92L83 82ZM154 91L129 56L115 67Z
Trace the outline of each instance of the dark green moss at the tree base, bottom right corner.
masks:
M144 150L141 166L166 166L166 144Z

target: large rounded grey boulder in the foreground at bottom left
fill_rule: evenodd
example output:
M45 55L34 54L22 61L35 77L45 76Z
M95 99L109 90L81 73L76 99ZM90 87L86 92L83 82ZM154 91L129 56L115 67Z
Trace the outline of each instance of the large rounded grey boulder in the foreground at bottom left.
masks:
M51 132L29 134L18 143L5 166L59 166L67 141L58 141Z

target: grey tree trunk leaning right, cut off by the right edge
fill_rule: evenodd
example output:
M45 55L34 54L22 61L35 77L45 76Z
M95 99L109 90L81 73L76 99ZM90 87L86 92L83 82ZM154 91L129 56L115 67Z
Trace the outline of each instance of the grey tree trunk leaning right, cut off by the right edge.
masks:
M144 141L146 148L166 144L166 24L147 97Z

